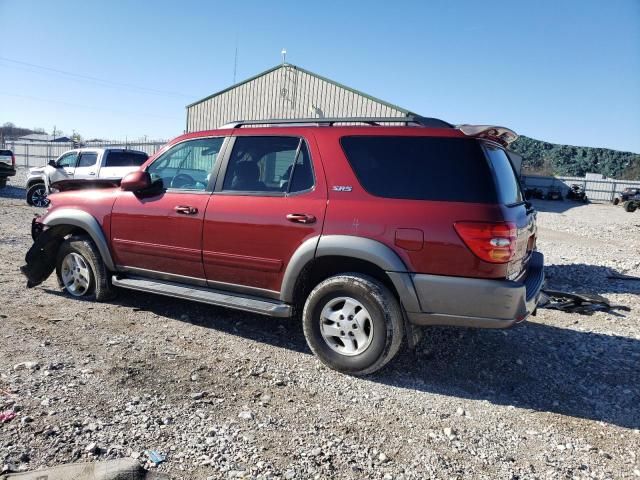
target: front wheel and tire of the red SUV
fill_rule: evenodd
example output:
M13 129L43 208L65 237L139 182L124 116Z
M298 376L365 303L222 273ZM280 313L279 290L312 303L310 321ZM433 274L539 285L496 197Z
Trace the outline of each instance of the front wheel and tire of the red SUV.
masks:
M90 237L66 239L58 250L56 274L60 287L73 297L97 302L114 297L111 275Z

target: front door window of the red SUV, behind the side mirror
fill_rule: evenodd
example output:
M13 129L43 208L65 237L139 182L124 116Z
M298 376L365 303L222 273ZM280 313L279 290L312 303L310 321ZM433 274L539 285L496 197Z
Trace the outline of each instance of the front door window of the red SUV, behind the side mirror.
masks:
M174 145L147 169L164 188L205 191L224 138L200 138Z

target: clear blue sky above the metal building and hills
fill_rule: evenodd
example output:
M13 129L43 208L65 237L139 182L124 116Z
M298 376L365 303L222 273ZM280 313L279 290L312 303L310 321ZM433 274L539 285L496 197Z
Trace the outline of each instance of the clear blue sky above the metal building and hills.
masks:
M0 0L0 24L0 123L179 135L185 105L232 83L237 42L238 81L285 47L423 115L640 152L640 0Z

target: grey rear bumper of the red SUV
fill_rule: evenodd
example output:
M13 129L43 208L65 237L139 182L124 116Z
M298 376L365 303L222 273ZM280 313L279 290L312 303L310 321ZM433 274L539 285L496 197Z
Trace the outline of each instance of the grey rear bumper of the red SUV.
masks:
M413 274L411 279L421 310L407 312L411 323L507 328L535 311L544 282L544 257L532 253L523 281L427 274Z

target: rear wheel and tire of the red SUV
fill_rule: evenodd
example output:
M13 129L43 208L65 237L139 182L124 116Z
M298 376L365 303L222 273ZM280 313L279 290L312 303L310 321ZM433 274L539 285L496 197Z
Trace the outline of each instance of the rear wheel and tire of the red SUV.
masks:
M318 284L304 305L302 324L320 361L350 375L380 370L396 356L404 337L396 297L378 280L358 273Z

